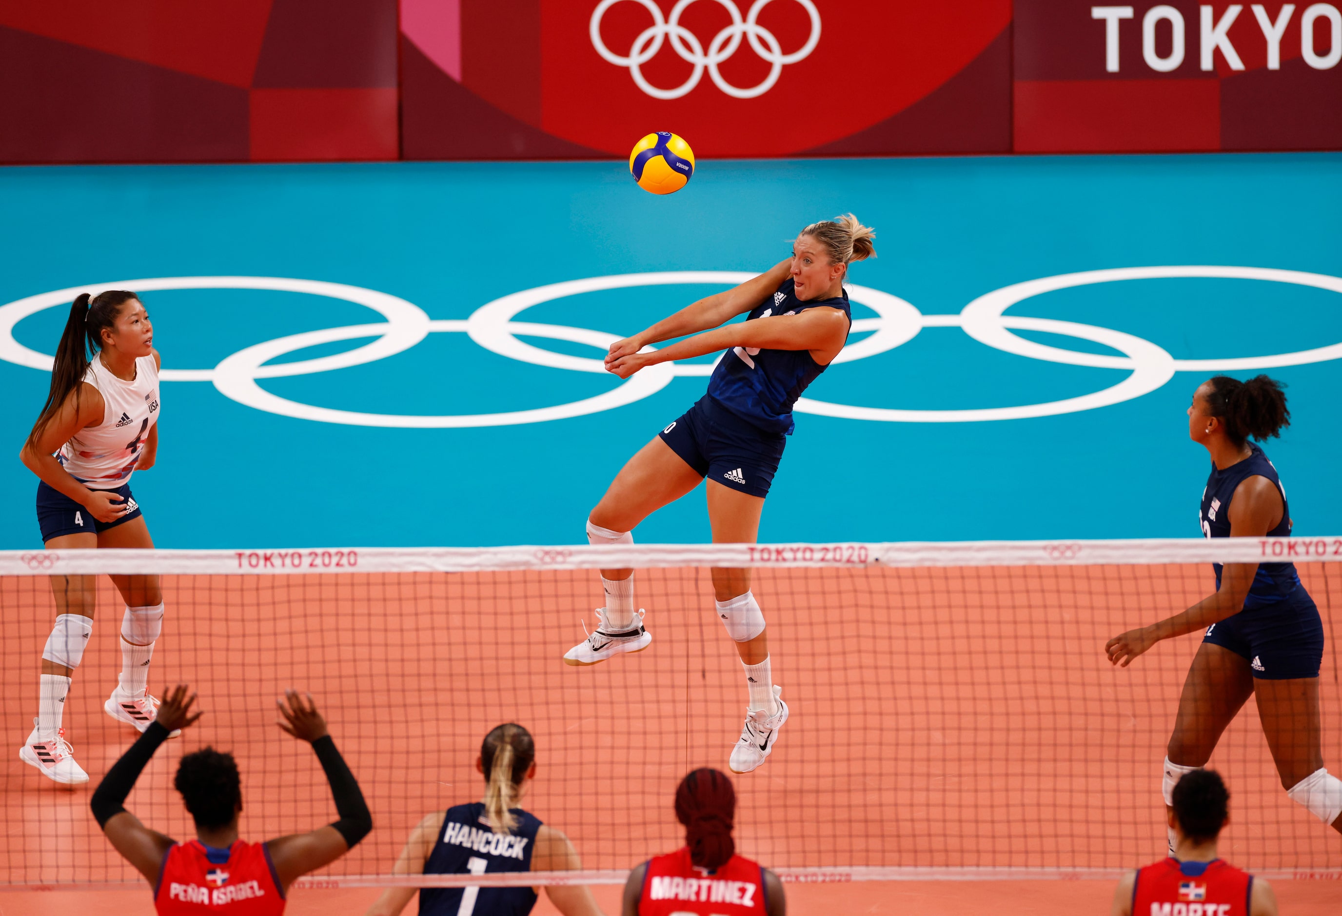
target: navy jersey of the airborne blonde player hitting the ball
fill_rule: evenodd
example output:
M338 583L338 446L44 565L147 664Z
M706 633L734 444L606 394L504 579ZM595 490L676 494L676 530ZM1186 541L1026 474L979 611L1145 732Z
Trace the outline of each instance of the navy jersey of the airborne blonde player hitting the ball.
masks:
M820 306L839 309L852 324L848 291L832 300L803 302L789 277L772 297L750 309L746 321L774 314L796 314ZM804 349L758 349L737 347L723 353L709 379L709 394L729 411L766 432L792 434L792 406L825 367Z

